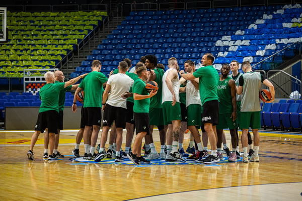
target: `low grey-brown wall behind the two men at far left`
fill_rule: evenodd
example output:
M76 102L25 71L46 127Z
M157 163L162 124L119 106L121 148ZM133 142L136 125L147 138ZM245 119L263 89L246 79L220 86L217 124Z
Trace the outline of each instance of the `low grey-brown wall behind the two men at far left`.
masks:
M80 129L81 109L73 113L71 107L64 109L64 129ZM34 130L39 114L39 107L7 107L6 130Z

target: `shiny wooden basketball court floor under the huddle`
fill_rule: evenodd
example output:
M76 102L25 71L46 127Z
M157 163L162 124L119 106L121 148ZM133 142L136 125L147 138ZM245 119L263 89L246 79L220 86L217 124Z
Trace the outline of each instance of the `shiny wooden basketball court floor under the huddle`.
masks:
M42 159L41 134L29 161L32 134L0 131L0 200L302 200L301 134L261 132L259 163L139 166L73 161L77 131L61 133L64 159ZM154 136L159 151L158 131Z

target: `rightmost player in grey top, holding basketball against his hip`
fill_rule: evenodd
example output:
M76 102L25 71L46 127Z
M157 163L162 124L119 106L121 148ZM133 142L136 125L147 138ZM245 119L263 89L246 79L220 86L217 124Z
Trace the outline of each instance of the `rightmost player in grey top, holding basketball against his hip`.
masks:
M242 94L241 101L241 119L240 128L242 129L241 143L243 147L243 159L242 162L249 162L248 157L248 131L251 125L252 132L254 135L254 148L255 153L253 154L250 161L259 162L259 145L260 136L258 129L260 125L260 99L259 91L261 89L261 83L269 87L271 92L271 99L268 103L271 103L275 99L275 89L273 84L265 79L265 77L259 72L253 72L249 61L242 63L242 69L245 72L239 78L239 86L237 88L237 94Z

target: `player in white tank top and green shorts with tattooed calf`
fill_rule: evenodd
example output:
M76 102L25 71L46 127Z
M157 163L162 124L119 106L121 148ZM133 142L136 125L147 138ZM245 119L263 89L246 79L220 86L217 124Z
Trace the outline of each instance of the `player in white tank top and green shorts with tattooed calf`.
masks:
M177 59L168 60L169 69L163 76L163 114L165 125L168 125L166 161L186 162L178 152L179 130L181 124L181 110L179 103L179 76ZM172 151L170 147L172 146Z

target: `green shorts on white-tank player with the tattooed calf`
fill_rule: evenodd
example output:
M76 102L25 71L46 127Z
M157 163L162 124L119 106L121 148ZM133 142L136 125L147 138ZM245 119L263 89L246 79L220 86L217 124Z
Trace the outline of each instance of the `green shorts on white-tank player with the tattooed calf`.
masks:
M181 120L181 110L179 102L176 102L174 106L171 105L172 101L166 101L163 103L163 114L165 125L172 124L172 121Z

